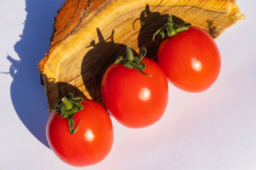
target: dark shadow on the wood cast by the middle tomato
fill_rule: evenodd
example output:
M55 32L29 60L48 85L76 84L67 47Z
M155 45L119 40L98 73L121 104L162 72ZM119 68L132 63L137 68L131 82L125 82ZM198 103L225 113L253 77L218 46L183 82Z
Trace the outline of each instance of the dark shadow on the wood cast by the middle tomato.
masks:
M114 42L114 30L106 40L99 28L96 31L99 42L95 43L95 40L92 40L90 45L85 47L93 48L84 56L81 65L81 75L84 85L92 99L105 107L101 93L103 74L108 66L116 60L116 57L125 57L127 45ZM133 49L132 51L134 55L138 55Z

